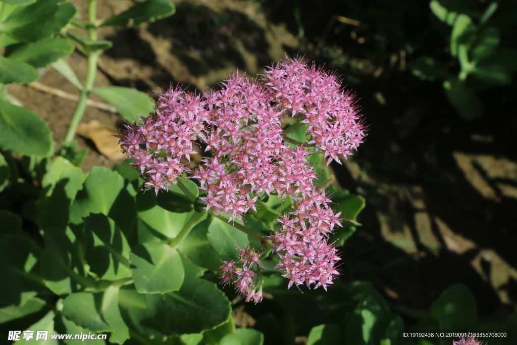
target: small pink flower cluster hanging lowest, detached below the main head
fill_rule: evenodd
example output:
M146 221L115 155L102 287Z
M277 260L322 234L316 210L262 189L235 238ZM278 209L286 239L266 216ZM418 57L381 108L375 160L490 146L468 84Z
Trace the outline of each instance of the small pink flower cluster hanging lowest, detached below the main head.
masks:
M237 247L238 248L238 247ZM237 266L234 261L223 261L220 267L221 283L224 285L234 283L237 291L246 297L246 302L253 301L255 304L262 301L262 277L260 267L264 268L260 262L260 253L246 246L245 249L239 248L239 260ZM255 270L253 270L253 266Z

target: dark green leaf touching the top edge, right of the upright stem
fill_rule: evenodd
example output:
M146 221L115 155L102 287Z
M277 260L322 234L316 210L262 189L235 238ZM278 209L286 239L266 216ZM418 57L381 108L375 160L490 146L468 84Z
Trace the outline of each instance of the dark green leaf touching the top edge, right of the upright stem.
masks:
M176 7L170 0L148 0L136 3L130 9L116 14L101 26L126 26L131 21L131 26L135 27L172 16L175 12Z

